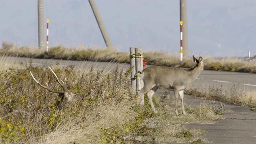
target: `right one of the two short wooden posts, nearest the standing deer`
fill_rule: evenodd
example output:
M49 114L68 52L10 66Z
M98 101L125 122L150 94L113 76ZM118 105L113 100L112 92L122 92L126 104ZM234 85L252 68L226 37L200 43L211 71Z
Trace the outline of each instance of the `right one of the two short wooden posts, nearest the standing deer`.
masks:
M142 52L141 52L142 48L135 48L135 63L136 63L136 91L138 94L138 91L141 90L142 85L141 85L141 76L142 76L142 70L143 70L143 66L142 66ZM144 95L142 95L140 104L144 105Z

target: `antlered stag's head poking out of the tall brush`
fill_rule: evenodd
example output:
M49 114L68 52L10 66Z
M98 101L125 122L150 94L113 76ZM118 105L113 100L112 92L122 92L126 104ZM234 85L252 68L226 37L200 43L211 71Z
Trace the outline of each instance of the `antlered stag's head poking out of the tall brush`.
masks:
M50 68L50 67L49 67ZM48 87L48 84L46 83L47 86L44 86L42 84L40 84L40 82L38 82L38 80L36 80L36 78L33 76L32 72L30 71L30 74L33 78L33 80L41 87L45 88L46 90L49 90L50 92L54 92L54 93L58 93L61 100L60 103L57 104L56 106L56 110L61 110L64 109L66 107L68 107L68 104L72 104L73 102L77 101L80 99L80 94L76 94L76 93L72 93L71 90L74 88L74 82L73 82L73 86L72 88L70 88L69 90L67 89L67 79L65 78L65 82L61 81L58 79L58 76L54 73L54 71L50 68L50 70L52 71L52 73L54 74L54 76L56 77L56 79L54 79L56 82L58 82L61 86L63 90L52 90Z

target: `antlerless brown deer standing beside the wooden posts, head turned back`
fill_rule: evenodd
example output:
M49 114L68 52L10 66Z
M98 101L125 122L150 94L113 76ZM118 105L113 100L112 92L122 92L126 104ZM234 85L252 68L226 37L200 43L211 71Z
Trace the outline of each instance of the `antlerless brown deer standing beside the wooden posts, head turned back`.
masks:
M176 102L176 115L178 115L177 99L179 95L182 105L182 113L186 114L183 104L184 90L199 76L200 72L204 70L204 62L201 56L198 60L193 56L193 60L196 65L188 70L164 66L151 66L143 70L142 80L144 81L144 87L138 91L138 101L140 102L142 95L148 92L147 96L151 108L156 112L152 102L153 94L158 88L173 89Z

